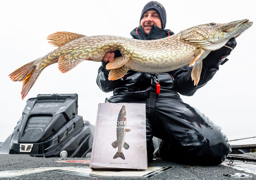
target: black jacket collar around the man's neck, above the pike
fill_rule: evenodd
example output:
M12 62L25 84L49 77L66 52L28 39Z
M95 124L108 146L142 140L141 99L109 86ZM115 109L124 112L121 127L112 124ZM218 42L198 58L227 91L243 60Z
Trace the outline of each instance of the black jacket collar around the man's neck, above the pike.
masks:
M142 26L139 26L138 28L135 28L134 30L132 30L130 35L134 39L153 40L153 39L166 38L168 36L174 35L174 32L171 32L169 29L161 29L156 25L153 25L147 36L145 35Z

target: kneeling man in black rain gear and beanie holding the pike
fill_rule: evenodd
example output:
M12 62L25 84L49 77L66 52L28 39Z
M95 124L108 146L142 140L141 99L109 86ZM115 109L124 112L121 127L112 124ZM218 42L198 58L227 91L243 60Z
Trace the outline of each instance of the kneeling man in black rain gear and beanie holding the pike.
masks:
M151 1L145 5L140 17L140 26L131 36L140 40L165 38L174 33L165 29L166 12L162 4ZM109 81L106 64L121 56L119 51L108 52L98 71L97 84L104 92L113 91L110 103L146 104L146 132L148 159L152 158L153 136L162 140L159 155L173 161L199 165L217 165L231 151L227 137L199 110L185 104L178 93L192 96L204 86L224 64L236 46L235 38L225 47L212 51L204 60L201 79L197 86L191 80L192 67L188 65L167 73L141 73L128 70L125 76ZM156 87L161 85L160 94ZM209 102L210 103L210 102Z

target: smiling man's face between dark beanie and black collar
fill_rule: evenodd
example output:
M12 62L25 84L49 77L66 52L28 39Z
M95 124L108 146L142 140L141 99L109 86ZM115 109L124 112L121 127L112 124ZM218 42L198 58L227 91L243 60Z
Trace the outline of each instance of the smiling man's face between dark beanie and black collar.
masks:
M145 35L148 35L153 24L159 28L162 28L162 23L159 14L156 10L147 10L140 20L140 26L142 26Z

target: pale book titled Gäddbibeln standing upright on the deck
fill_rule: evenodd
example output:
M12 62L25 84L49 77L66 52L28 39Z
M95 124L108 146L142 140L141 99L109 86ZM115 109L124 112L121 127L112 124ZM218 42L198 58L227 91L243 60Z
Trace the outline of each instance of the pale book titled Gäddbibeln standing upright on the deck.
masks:
M147 170L145 104L98 105L90 168Z

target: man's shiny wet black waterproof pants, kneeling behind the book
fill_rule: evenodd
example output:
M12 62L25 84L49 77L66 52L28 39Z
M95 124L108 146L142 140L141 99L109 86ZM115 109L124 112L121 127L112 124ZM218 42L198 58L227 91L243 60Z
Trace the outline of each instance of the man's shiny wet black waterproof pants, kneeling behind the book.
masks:
M120 102L119 102L120 103ZM156 98L155 118L149 118L146 104L146 135L148 158L154 151L153 136L163 140L159 148L162 158L186 164L221 164L230 152L227 137L221 127L174 93L173 98L159 95Z

